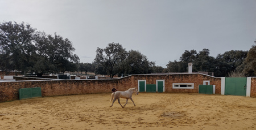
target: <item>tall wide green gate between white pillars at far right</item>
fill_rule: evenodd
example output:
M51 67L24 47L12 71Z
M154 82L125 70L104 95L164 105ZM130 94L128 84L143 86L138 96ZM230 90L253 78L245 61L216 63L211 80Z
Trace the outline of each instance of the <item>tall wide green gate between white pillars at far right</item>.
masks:
M225 95L246 96L246 77L226 77Z

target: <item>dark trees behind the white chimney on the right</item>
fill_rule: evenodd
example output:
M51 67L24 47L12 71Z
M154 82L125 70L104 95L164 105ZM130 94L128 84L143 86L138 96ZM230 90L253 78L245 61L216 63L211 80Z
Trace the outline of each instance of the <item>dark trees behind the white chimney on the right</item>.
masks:
M218 54L216 58L210 57L210 50L203 49L197 53L196 50L185 50L180 61L174 60L167 64L166 72L188 72L188 63L193 63L193 72L214 72L214 76L228 76L232 71L241 72L247 51L231 50L224 54Z

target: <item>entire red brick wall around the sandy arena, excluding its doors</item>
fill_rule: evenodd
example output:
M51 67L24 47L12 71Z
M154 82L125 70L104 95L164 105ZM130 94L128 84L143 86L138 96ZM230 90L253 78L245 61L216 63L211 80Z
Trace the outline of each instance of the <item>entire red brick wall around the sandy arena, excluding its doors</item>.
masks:
M98 80L37 80L37 81L13 81L0 82L0 102L19 99L19 88L41 87L42 97L63 96L72 94L111 93L113 86L124 91L129 88L138 88L138 80L146 80L147 84L156 84L156 80L164 80L165 92L168 93L198 93L199 85L203 81L210 81L210 85L216 85L216 94L221 94L221 78L191 74L165 74L165 75L131 75L121 79ZM253 92L256 93L256 78L252 78ZM254 82L254 83L253 83ZM172 89L172 83L194 83L194 89ZM252 93L251 97L256 97Z

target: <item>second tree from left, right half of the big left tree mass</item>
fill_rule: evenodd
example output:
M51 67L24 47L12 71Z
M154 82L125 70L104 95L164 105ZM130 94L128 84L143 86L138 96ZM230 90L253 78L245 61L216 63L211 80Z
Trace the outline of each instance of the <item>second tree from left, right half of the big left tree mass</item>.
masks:
M56 33L54 36L44 32L38 32L35 40L37 52L44 60L49 62L49 66L54 66L50 70L40 70L41 73L46 72L65 72L76 71L76 64L79 63L79 57L73 54L75 48L68 38L63 38ZM73 63L74 62L74 63ZM37 72L37 68L33 68Z

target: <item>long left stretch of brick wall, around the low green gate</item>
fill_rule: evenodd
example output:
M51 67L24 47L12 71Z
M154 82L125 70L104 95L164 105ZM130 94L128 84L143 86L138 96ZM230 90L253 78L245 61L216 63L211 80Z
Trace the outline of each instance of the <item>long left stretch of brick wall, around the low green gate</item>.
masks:
M41 87L42 97L110 93L118 80L42 80L0 82L0 102L19 99L19 88Z

